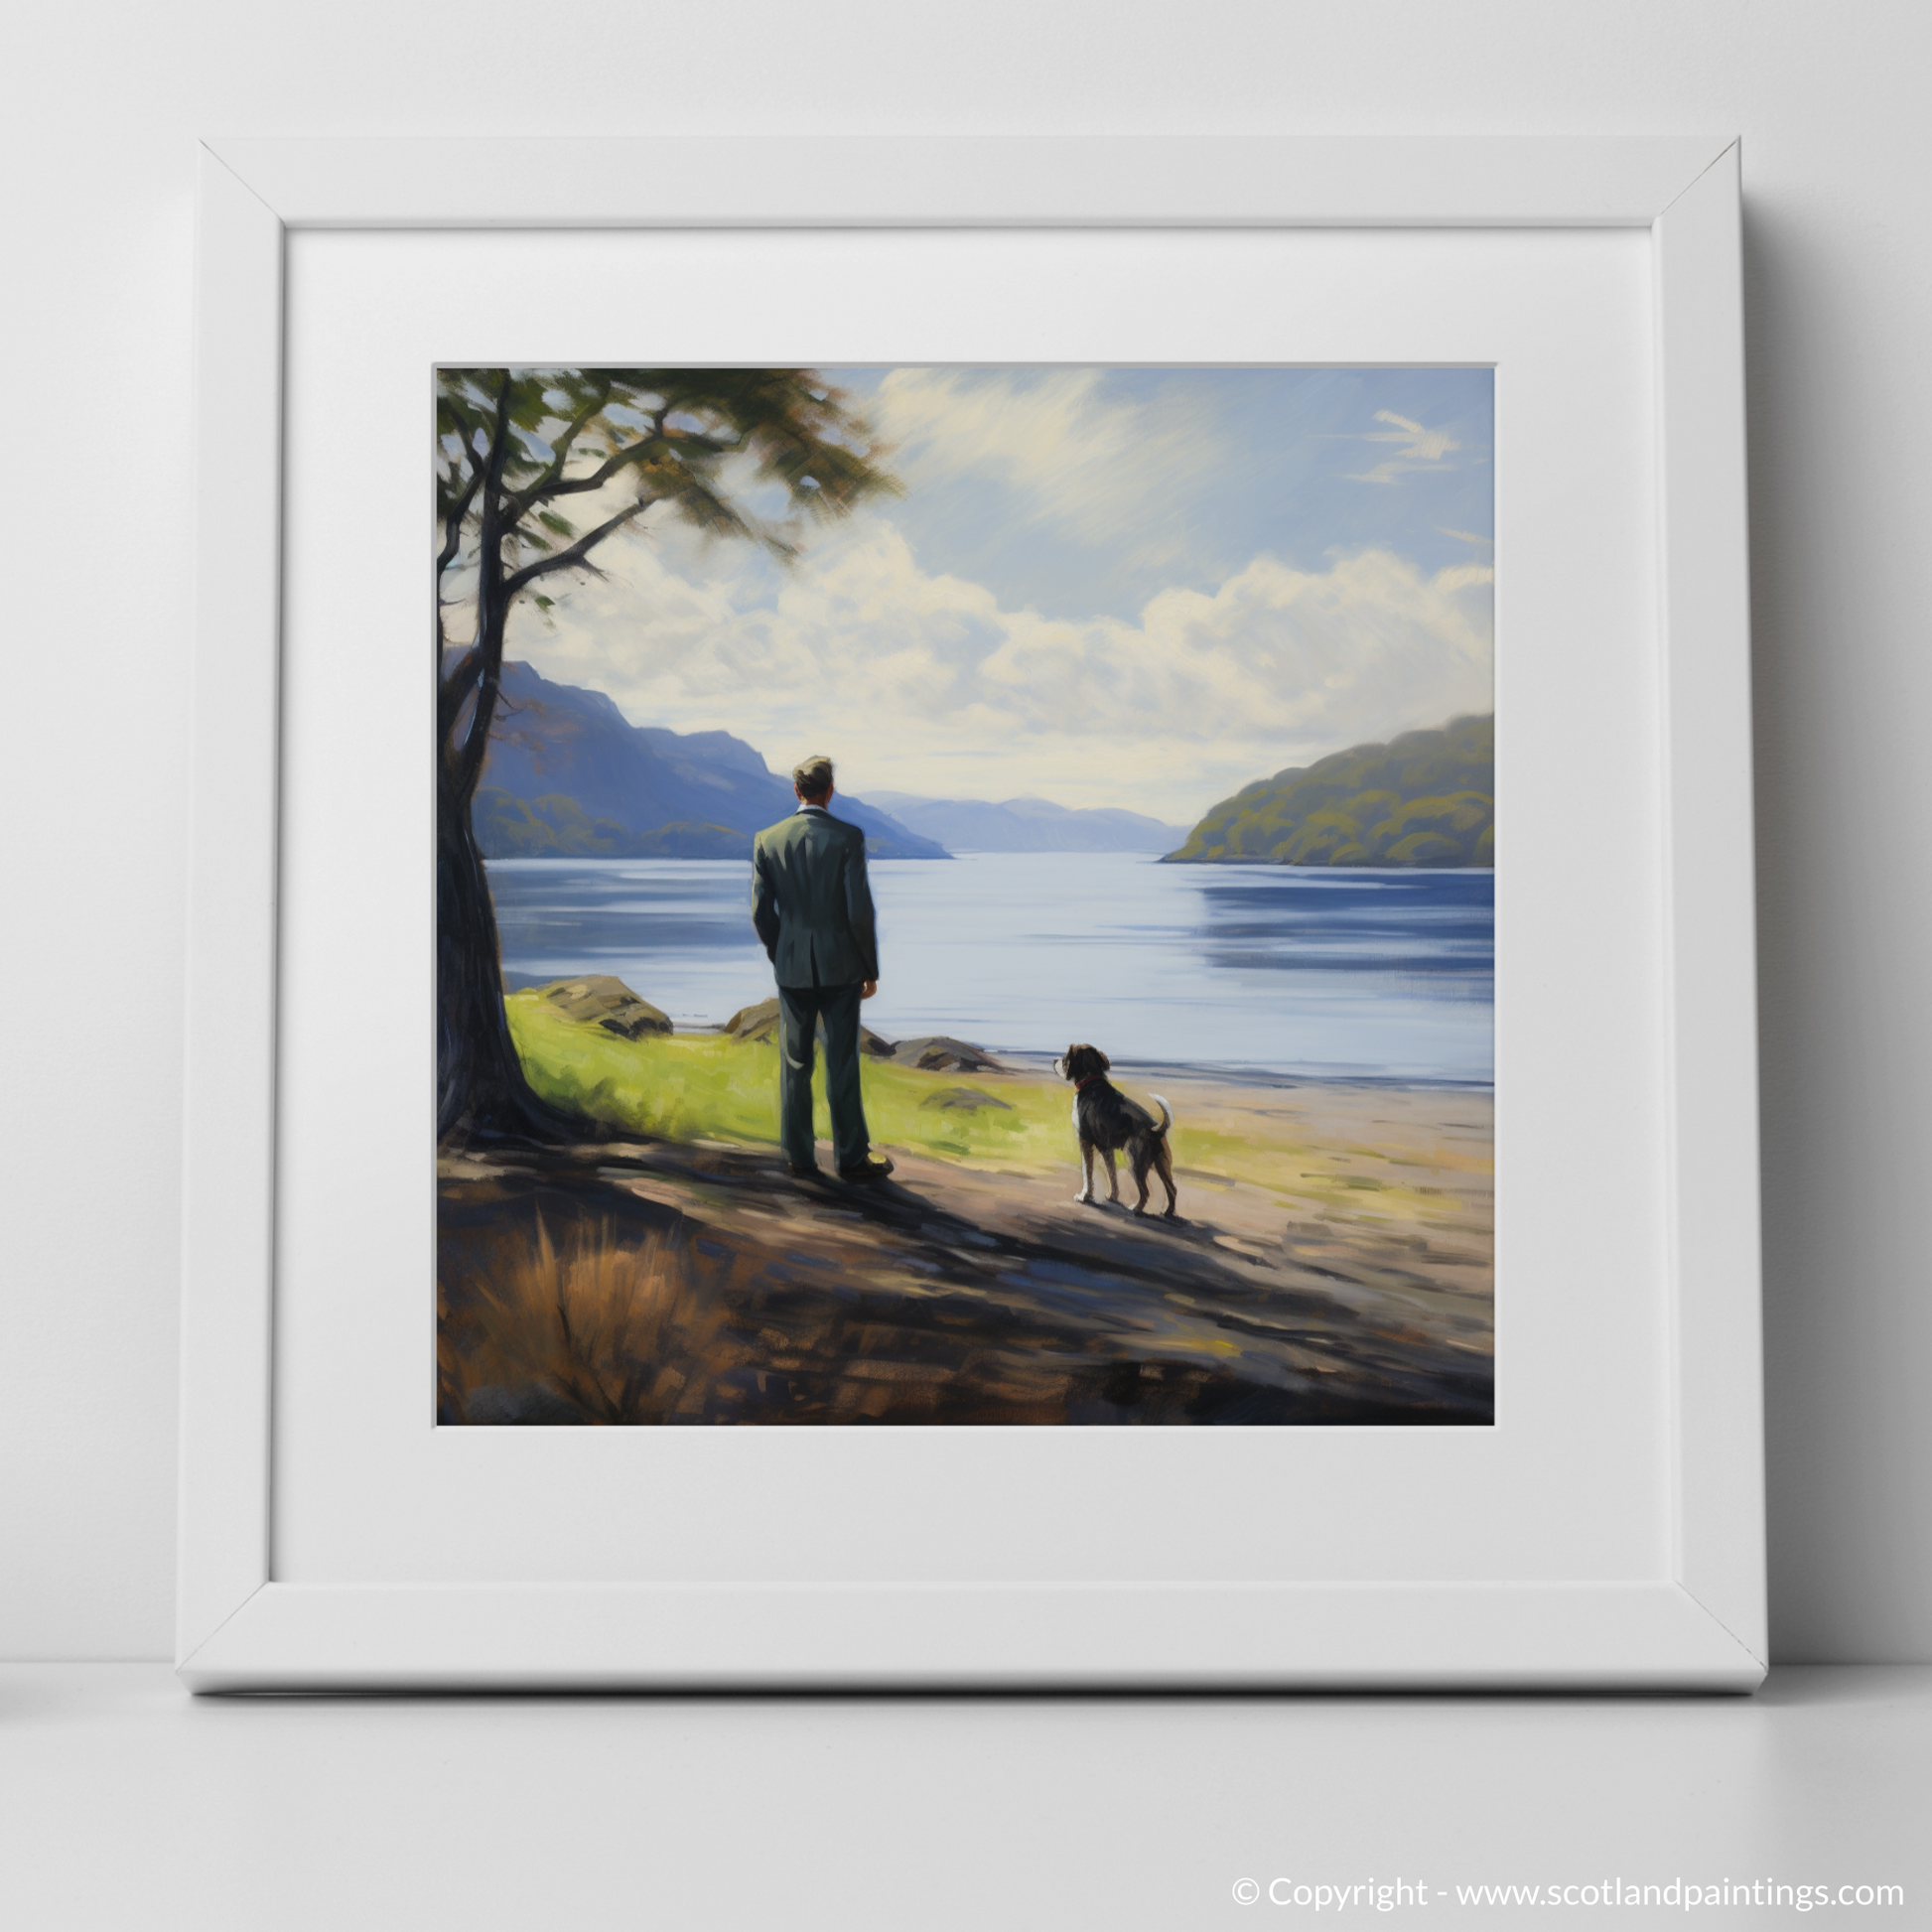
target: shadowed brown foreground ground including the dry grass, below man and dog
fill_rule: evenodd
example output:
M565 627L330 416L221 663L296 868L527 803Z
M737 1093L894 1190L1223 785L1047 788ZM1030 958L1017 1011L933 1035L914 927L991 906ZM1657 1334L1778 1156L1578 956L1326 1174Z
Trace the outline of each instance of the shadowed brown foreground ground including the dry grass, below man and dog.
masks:
M1488 1424L1488 1277L1061 1179L622 1142L440 1167L442 1422ZM1466 1265L1466 1264L1463 1264Z

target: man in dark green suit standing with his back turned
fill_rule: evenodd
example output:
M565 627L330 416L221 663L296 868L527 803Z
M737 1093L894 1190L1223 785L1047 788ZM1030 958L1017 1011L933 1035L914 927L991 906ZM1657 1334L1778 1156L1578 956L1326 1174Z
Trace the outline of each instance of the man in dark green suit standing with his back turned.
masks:
M825 1028L825 1099L840 1180L883 1180L858 1094L858 1003L879 991L879 941L866 835L825 808L833 761L792 773L798 810L752 846L752 923L779 976L779 1142L802 1180L819 1173L811 1140L811 1047Z

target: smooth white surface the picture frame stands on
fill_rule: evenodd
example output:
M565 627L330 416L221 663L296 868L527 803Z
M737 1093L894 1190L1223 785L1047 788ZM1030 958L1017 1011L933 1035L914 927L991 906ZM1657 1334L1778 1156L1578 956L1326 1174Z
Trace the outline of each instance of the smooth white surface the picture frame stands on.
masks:
M158 1663L0 1665L8 1932L1748 1926L1820 1903L1932 1926L1928 1818L1932 1665L1787 1667L1752 1698L189 1698ZM1459 1893L1482 1886L1571 1889ZM1658 1889L1605 1909L1604 1886ZM1687 1911L1685 1886L1719 1893ZM1861 1909L1880 1886L1903 1899Z

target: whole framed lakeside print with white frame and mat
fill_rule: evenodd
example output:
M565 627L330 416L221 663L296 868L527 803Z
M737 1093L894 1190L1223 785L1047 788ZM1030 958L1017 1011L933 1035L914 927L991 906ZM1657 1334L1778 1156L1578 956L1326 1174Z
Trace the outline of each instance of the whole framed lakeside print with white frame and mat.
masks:
M1754 1683L1735 147L707 155L205 158L187 1681Z

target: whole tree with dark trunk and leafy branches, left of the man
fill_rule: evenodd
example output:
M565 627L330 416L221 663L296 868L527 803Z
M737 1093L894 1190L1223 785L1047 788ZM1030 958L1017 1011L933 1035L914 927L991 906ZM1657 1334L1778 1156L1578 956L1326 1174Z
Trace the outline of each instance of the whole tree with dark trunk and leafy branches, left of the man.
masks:
M744 508L777 491L781 522ZM518 599L645 522L796 554L800 526L898 483L871 431L811 369L442 369L437 379L437 1134L576 1138L583 1122L524 1080L502 1009L502 958L469 819L502 692ZM576 498L576 502L572 502ZM580 527L564 506L578 510ZM452 645L452 612L468 641Z

